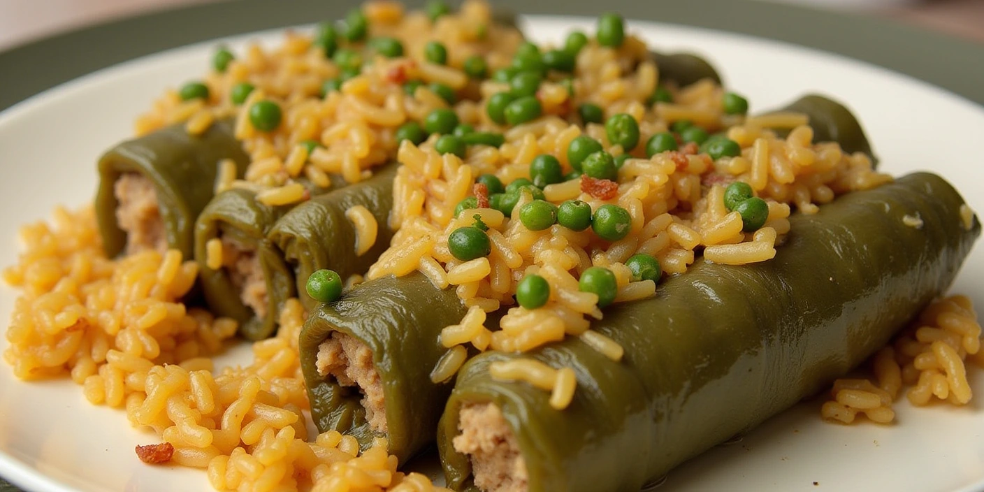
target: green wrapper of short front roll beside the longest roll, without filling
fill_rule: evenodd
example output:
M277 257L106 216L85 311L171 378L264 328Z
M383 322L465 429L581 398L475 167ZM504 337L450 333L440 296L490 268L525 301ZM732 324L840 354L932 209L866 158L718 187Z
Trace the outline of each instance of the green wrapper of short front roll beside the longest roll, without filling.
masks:
M455 289L439 289L427 277L381 277L320 304L300 336L301 369L318 430L352 435L366 448L377 434L366 421L361 395L318 374L318 346L332 332L365 343L383 383L390 453L405 462L434 440L434 428L451 393L451 382L431 384L430 372L447 348L441 330L466 312ZM426 381L427 384L420 384Z

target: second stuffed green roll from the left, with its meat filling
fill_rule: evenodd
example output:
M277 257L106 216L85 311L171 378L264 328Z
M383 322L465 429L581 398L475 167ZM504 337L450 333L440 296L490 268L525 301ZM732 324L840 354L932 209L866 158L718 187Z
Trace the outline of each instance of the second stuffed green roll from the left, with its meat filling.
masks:
M334 179L341 184L340 178ZM308 186L313 196L333 188ZM272 336L283 303L297 295L294 276L279 248L267 238L281 216L294 205L269 206L246 189L231 189L215 196L195 226L195 259L202 290L218 316L240 323L249 339ZM209 243L221 241L222 265L209 265Z

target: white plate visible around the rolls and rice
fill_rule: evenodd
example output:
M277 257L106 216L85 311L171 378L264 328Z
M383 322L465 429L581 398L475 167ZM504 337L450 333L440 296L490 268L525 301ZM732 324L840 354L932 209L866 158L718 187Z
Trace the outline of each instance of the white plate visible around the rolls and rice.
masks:
M560 40L569 18L529 18L537 40ZM884 169L932 169L984 211L980 162L984 110L890 71L839 56L753 37L631 23L654 46L705 54L753 110L804 92L845 101L863 121ZM226 39L276 43L279 32ZM57 204L92 200L96 157L131 134L136 115L165 87L200 77L215 42L183 47L96 72L32 97L0 114L0 264L17 255L17 227ZM984 251L977 248L954 290L984 306ZM0 289L0 317L16 292ZM0 350L6 339L0 341ZM242 348L242 347L240 347ZM227 357L244 355L243 350ZM70 381L22 383L0 362L0 475L29 490L209 490L205 473L148 466L134 446L155 442L130 427L121 410L92 406ZM819 402L769 420L741 443L719 447L673 470L660 492L697 490L984 490L984 377L970 375L978 399L964 408L897 404L892 426L824 423ZM631 459L631 457L626 457Z

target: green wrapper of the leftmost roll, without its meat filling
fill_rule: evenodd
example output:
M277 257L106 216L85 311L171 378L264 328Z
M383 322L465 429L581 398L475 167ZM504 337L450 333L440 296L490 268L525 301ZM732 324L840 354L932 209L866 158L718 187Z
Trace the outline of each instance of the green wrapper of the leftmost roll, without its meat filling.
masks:
M126 232L116 222L119 203L113 186L120 174L138 172L154 183L167 244L190 259L195 250L195 220L215 195L218 161L231 158L242 176L249 156L235 139L231 121L216 121L202 135L189 135L183 124L123 142L99 158L95 215L106 256L126 247Z

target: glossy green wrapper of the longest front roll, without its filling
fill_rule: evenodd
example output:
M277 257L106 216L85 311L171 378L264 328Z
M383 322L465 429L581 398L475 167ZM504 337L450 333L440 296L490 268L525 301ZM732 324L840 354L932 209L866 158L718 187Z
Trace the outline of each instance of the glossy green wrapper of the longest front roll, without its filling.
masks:
M884 346L950 285L980 234L942 178L912 174L795 215L769 262L698 262L653 298L615 305L591 328L625 348L621 363L568 338L526 354L485 352L459 372L438 427L454 490L473 487L455 452L466 402L499 405L517 436L530 492L636 491L728 438L814 395ZM905 225L918 213L922 228ZM578 389L549 394L494 381L496 360L571 366Z

